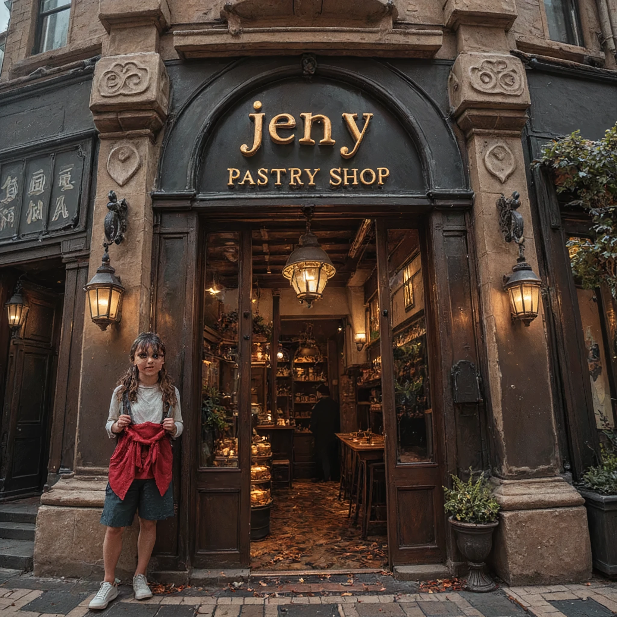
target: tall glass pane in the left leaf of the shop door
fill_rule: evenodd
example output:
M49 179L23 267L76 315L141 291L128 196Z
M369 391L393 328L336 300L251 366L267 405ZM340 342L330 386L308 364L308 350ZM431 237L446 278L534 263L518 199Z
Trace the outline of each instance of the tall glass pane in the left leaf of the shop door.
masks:
M207 238L202 357L202 467L238 466L239 234Z

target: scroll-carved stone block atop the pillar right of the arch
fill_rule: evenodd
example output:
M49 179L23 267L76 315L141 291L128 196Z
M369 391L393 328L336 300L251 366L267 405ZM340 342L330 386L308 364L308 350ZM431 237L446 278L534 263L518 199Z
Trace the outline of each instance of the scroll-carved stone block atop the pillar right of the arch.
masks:
M531 104L523 63L505 54L458 54L448 92L456 117L470 108L524 110Z

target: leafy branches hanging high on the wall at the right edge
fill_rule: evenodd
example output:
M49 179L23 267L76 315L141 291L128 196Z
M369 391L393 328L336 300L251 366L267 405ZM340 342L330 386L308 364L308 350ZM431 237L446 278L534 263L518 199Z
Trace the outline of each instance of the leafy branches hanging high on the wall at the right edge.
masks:
M590 141L574 131L542 148L535 165L550 168L557 193L568 193L592 217L591 239L568 242L574 276L585 289L606 283L617 299L617 125Z

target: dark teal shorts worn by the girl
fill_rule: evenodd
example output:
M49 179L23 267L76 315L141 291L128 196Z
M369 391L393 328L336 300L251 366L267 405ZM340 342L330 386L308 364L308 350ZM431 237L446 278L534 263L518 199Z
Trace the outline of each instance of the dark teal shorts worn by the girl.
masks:
M173 482L162 497L154 478L133 480L124 500L107 483L101 523L108 527L130 527L136 511L148 521L162 521L173 513Z

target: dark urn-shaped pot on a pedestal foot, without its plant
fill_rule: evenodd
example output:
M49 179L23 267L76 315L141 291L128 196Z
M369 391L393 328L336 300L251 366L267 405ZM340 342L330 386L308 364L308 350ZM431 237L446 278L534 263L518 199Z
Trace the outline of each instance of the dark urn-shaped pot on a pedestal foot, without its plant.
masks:
M499 521L495 523L461 523L450 516L450 524L457 537L458 550L468 561L469 575L466 589L475 592L492 591L497 587L484 574L484 560L489 556L493 545L493 531Z

